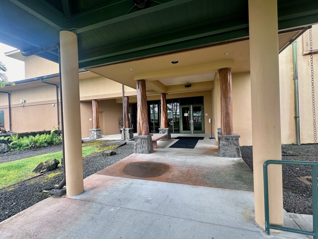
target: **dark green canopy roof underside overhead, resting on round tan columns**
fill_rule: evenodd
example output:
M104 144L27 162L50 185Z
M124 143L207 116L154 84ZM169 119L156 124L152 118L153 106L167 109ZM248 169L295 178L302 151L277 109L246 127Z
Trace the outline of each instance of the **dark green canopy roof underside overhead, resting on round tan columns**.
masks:
M79 67L248 37L247 0L2 0L0 42L24 51L78 36ZM278 0L280 30L318 23L318 1ZM57 51L40 56L58 61Z

